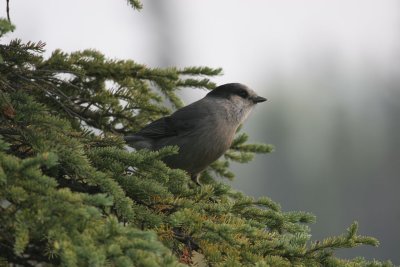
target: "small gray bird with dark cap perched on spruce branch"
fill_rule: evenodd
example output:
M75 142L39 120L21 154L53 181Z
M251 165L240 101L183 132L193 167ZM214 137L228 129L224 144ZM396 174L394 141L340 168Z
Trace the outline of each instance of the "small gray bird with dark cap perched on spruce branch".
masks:
M186 171L201 185L200 173L230 148L238 127L266 100L241 83L223 84L124 139L137 150L177 146L178 153L163 158L164 163Z

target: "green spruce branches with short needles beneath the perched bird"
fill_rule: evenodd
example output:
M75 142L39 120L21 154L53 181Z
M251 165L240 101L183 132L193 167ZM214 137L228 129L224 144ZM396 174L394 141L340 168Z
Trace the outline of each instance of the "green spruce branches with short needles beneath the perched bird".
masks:
M1 36L12 29L0 21ZM95 50L45 58L44 49L0 45L0 263L392 266L335 256L378 245L357 223L312 241L312 214L283 212L216 179L233 178L230 162L272 151L244 133L202 174L202 186L161 161L176 147L126 149L124 134L181 107L180 89L213 89L220 69L149 68Z

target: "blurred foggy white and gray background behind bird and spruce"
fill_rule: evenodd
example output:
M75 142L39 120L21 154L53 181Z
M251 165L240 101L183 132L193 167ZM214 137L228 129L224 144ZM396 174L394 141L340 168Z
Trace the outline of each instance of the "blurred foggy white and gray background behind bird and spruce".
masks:
M215 82L268 98L244 130L276 147L234 165L232 185L314 213L314 240L357 220L380 247L339 255L400 264L400 2L142 2L137 12L124 0L10 1L17 29L2 42L42 40L46 55L94 48L151 67L222 67ZM186 103L205 94L182 91Z

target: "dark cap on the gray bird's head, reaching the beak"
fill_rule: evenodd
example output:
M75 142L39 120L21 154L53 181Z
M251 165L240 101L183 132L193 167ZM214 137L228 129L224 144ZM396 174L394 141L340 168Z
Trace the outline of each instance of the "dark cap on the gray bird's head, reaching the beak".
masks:
M221 86L218 86L211 92L207 94L208 97L221 97L221 98L230 98L233 95L240 96L244 99L251 100L254 104L264 102L267 99L261 96L258 96L253 90L248 88L246 85L241 83L227 83Z

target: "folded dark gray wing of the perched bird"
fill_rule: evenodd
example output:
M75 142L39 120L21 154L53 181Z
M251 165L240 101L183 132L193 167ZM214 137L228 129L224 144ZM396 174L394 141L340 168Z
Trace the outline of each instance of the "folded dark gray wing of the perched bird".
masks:
M148 124L135 133L135 136L159 139L195 130L198 124L209 115L207 109L204 109L199 102L192 103L177 110L171 116L163 117Z

